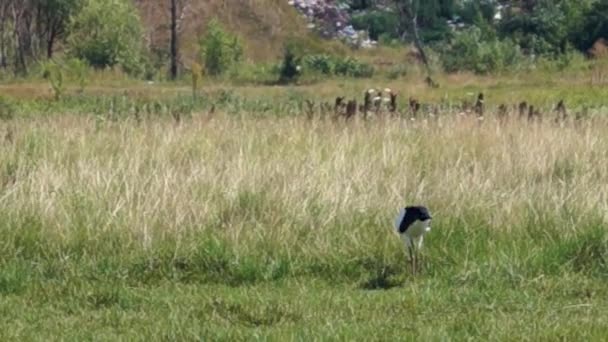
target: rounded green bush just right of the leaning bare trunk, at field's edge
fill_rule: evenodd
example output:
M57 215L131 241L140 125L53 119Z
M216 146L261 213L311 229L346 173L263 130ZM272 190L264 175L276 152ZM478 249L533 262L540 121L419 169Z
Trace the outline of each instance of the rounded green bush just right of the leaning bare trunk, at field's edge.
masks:
M456 34L441 53L448 72L469 70L491 73L516 66L523 59L519 47L509 40L482 40L481 30L471 27Z

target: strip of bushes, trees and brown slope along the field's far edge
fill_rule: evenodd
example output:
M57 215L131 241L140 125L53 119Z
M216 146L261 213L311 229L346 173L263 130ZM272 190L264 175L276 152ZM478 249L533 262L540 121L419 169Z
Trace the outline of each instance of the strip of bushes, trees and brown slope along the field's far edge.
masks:
M281 78L284 47L290 44L298 47L297 57L308 61L304 75L370 77L377 64L370 54L389 56L385 63L417 64L407 57L414 37L409 17L397 10L403 4L413 4L422 43L436 56L437 71L487 74L545 61L567 65L573 55L598 57L598 51L606 50L601 39L608 36L604 0L347 1L354 27L379 40L375 52L316 37L280 0L225 5L7 0L0 6L2 78L36 75L36 64L44 59L75 57L96 69L115 67L136 78L167 79L171 3L176 7L178 72L188 74L196 62L207 75L248 82Z

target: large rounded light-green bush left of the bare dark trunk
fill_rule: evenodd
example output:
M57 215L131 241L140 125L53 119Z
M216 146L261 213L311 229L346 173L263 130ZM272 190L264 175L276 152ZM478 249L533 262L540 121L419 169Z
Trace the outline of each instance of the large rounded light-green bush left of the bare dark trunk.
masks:
M95 68L120 66L132 75L144 71L143 29L128 0L86 0L70 23L71 56Z

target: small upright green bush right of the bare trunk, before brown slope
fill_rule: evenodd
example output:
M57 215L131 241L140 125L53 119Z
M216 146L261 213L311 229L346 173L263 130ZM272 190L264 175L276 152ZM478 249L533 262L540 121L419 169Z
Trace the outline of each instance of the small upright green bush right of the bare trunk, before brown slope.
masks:
M211 76L224 74L243 57L239 38L224 30L216 19L209 22L207 34L199 41L199 47L202 64Z

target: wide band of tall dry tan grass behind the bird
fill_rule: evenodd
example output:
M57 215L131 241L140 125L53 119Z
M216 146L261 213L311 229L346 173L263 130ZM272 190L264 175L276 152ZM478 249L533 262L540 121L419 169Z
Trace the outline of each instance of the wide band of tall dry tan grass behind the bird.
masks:
M9 126L0 127L4 136ZM365 227L326 230L336 220L369 217L388 231L411 203L428 205L439 226L476 218L511 230L536 215L555 225L549 234L608 209L603 119L559 127L219 115L137 126L66 115L10 129L13 142L0 145L2 216L38 217L60 238L81 228L123 231L150 246L202 231L244 249L264 240L319 252L337 237L359 245L377 236Z

